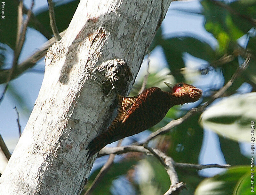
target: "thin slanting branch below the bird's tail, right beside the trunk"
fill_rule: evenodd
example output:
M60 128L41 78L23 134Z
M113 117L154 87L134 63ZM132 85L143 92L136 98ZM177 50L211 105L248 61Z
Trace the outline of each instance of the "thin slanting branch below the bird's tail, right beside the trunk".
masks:
M123 141L123 139L120 139L118 141L117 147L121 146L122 141ZM108 172L108 170L112 166L113 161L115 159L115 156L116 156L116 154L110 154L109 155L108 161L100 169L100 172L98 173L98 175L93 180L92 185L90 186L90 188L85 192L85 195L92 194L92 191L95 189L97 184L100 182L100 180L103 178L103 176Z

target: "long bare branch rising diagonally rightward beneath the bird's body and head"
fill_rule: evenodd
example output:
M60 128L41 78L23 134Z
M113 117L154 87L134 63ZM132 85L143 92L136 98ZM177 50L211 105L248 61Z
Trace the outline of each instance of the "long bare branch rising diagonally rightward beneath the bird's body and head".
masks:
M144 143L147 143L149 140L155 138L156 136L163 134L165 132L170 131L173 127L183 123L185 120L187 120L190 116L202 112L210 103L212 103L215 99L221 97L225 91L233 84L234 80L239 76L248 66L250 61L250 54L248 54L247 58L245 59L244 63L237 68L236 72L232 75L231 79L224 85L216 94L212 96L212 98L204 103L204 105L196 108L191 109L186 115L182 116L181 118L178 118L176 120L172 120L170 123L166 124L164 127L158 129L157 131L151 133L148 138L145 140ZM142 143L142 144L144 144Z

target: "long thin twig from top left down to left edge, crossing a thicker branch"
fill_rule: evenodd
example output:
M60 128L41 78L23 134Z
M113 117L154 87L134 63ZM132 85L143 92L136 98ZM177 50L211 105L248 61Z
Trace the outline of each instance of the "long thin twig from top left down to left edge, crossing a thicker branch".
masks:
M15 48L15 51L14 51L14 57L13 57L13 62L12 62L12 68L9 72L9 75L7 77L7 80L6 80L6 86L4 87L4 92L0 98L0 103L1 101L3 100L4 98L4 94L6 93L7 91L7 88L9 86L9 82L12 78L12 73L13 71L16 69L16 66L17 66L17 62L18 62L18 59L20 57L20 52L21 52L21 49L23 47L23 44L24 44L24 41L25 41L25 35L26 35L26 31L27 31L27 27L28 27L28 22L29 22L29 19L30 19L30 16L31 16L31 12L32 12L32 8L34 6L34 0L32 0L32 4L31 4L31 8L30 10L28 10L27 12L27 19L26 21L23 23L23 26L22 26L22 31L20 33L20 40L18 41L18 44L16 45L16 48Z

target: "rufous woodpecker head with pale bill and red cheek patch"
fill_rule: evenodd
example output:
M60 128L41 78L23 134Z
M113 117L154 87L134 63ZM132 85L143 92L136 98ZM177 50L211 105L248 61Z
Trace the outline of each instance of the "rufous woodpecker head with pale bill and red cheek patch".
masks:
M202 90L186 83L172 85L164 82L172 90L172 95L181 98L182 103L195 102L202 96Z

